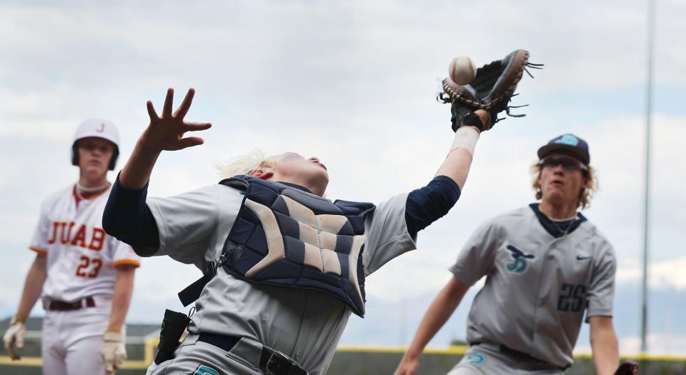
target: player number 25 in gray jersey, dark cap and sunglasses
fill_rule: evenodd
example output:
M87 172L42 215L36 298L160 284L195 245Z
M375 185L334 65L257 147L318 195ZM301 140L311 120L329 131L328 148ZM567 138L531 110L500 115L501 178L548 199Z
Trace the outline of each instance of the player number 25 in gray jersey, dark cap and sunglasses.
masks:
M533 186L540 203L497 216L472 234L396 375L417 372L424 346L483 276L467 321L469 349L449 375L562 374L572 365L584 314L597 374L617 369L615 253L577 212L596 186L588 145L565 134L538 156Z

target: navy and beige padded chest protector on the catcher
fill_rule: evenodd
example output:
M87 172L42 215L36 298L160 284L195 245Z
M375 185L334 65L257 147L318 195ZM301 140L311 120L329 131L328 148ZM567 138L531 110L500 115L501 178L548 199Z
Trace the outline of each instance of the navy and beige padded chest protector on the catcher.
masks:
M371 203L329 201L252 176L219 184L244 191L222 267L253 284L314 289L364 316L364 216Z

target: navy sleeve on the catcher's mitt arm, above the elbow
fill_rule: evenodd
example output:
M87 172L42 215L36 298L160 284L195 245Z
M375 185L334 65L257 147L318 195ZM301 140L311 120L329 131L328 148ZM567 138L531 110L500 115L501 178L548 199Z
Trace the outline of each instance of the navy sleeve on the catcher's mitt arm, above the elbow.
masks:
M459 199L459 186L448 176L436 176L427 186L407 196L405 223L410 236L437 221L452 209Z

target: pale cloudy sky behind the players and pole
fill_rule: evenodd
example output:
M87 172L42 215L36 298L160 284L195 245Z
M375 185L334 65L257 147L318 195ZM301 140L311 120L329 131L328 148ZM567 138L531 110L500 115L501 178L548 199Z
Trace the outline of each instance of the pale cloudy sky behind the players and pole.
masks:
M147 124L145 101L160 108L167 87L194 87L188 119L214 126L202 134L203 146L161 156L151 195L214 184L215 164L259 148L318 156L329 167L330 198L382 201L426 184L446 154L449 107L434 98L450 59L471 56L480 66L520 48L545 64L518 88L515 104L530 104L519 110L527 116L482 134L458 204L420 234L419 251L369 278L369 299L396 304L435 294L479 223L532 201L529 166L537 148L572 132L589 142L600 177L585 215L615 245L618 285L632 291L616 310L637 310L647 3L558 4L0 1L0 315L16 310L41 200L76 181L69 153L82 120L104 117L119 126L122 166ZM650 180L650 286L681 298L683 19L683 1L657 1ZM130 320L158 322L165 307L179 309L174 295L197 276L192 266L145 259ZM651 321L666 314L650 313ZM365 321L354 324L362 329L344 341L366 342L357 333ZM623 348L635 348L639 320L622 324ZM400 339L381 344L405 344L412 329L402 329ZM685 343L686 353L685 338L673 339Z

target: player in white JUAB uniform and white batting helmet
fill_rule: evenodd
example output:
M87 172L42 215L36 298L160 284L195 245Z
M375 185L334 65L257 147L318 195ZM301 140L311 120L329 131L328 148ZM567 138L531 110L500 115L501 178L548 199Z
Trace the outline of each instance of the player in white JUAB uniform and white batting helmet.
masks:
M24 346L24 321L41 297L43 373L111 374L126 358L124 319L139 257L102 229L111 184L107 171L119 154L119 133L109 121L84 121L72 145L79 181L41 206L19 310L4 336L12 359Z

